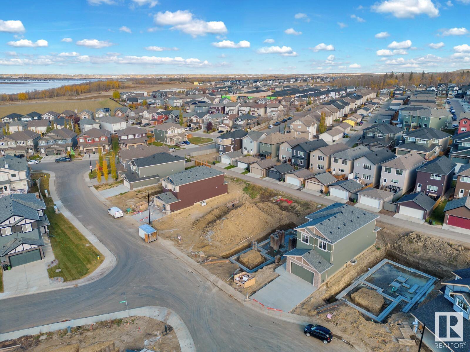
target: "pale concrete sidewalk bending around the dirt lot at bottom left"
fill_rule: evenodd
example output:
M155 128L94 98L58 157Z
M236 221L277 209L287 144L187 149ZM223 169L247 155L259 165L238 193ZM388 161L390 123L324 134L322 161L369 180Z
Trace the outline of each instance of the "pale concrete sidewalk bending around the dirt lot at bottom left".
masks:
M0 334L0 341L12 340L25 335L37 335L50 331L67 329L69 326L76 327L93 324L98 321L122 319L130 316L146 316L170 324L176 333L176 337L178 337L181 352L196 352L196 345L194 344L193 338L191 337L188 327L184 321L182 321L180 316L171 309L160 306L134 308L121 312L95 315L87 318L56 322L52 324L36 326L34 328L7 332L5 334Z

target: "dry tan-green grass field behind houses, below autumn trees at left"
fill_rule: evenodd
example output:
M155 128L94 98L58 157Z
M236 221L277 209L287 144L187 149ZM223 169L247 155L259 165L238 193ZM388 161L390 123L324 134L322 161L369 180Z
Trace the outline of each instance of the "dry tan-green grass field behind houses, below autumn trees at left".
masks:
M120 107L120 105L111 99L101 99L101 100L61 100L58 102L48 101L48 102L38 102L38 103L22 103L22 104L8 104L8 105L0 105L0 117L11 113L18 113L18 114L28 114L32 111L36 111L40 114L44 114L47 111L55 111L57 113L61 113L64 110L72 110L74 111L77 109L78 112L82 111L83 109L88 109L91 111L95 111L99 107L110 107L113 110L115 107Z

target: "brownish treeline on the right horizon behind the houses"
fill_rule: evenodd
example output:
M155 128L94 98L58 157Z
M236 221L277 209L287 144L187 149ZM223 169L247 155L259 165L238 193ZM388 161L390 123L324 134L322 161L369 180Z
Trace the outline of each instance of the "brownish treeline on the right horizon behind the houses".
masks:
M438 86L440 83L454 83L458 86L467 85L470 83L470 70L462 72L438 72L438 73L424 73L423 72L410 72L410 73L393 73L386 72L381 75L366 74L362 76L353 76L347 78L338 78L335 80L335 85L346 86L368 86L372 89L382 89L390 87L393 84L397 85L415 85L420 84Z

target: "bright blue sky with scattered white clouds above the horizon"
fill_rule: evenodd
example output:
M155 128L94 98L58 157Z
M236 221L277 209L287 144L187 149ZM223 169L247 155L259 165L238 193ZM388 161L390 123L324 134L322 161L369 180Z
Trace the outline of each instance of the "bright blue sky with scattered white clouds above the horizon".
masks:
M470 69L469 13L470 0L28 1L0 13L0 73Z

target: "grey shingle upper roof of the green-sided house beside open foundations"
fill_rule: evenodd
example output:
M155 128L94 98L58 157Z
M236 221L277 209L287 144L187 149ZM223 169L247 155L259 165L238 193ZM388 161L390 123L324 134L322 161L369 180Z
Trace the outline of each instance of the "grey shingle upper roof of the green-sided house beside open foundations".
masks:
M305 217L309 221L296 227L294 230L314 226L330 243L335 243L362 228L368 222L377 219L379 215L369 213L357 207L334 203Z

